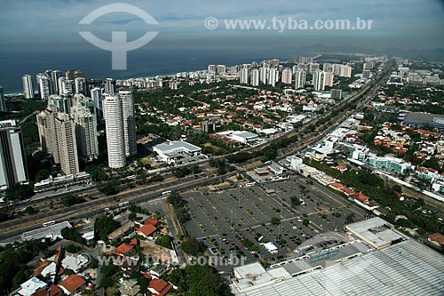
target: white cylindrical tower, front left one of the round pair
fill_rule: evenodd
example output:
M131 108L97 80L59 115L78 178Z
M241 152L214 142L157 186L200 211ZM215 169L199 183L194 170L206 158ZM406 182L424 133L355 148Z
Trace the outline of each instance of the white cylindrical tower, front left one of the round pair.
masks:
M126 158L122 99L119 96L107 96L103 100L103 118L107 134L108 166L112 169L123 168Z

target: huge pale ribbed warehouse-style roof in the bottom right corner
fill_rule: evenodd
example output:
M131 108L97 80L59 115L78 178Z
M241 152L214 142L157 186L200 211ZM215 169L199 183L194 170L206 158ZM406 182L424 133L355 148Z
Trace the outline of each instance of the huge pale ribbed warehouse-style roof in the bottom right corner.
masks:
M443 295L444 256L413 239L240 296Z

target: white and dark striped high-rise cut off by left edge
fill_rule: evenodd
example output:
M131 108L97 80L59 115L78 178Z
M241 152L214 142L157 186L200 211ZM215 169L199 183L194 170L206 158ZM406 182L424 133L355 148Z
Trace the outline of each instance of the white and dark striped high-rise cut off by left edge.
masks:
M0 122L0 189L28 180L21 128L15 121Z

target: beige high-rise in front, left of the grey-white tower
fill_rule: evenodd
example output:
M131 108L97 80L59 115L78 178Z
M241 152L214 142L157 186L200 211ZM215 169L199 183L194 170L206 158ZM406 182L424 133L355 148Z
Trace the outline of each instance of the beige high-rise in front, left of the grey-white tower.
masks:
M60 171L68 174L79 172L77 141L75 140L74 121L65 113L55 117L55 134L59 148Z

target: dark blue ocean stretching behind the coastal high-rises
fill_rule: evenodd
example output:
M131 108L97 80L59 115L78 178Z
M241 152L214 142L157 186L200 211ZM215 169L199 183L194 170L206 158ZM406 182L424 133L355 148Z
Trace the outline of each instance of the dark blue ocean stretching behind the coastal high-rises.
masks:
M20 48L8 50L0 48L0 85L4 93L23 92L21 76L30 74L36 88L36 74L46 69L81 69L87 78L126 79L156 75L170 75L206 69L209 64L233 66L278 58L287 60L288 55L276 56L273 53L251 55L248 51L229 52L223 50L184 50L184 49L139 49L128 52L127 70L111 69L111 53L99 49L60 49Z

